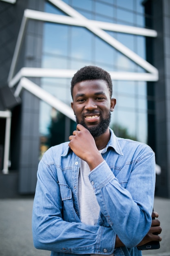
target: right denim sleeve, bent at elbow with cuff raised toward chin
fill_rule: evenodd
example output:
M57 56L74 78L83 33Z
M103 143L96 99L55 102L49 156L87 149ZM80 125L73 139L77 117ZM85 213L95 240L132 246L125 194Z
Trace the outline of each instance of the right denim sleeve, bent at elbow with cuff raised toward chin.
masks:
M148 148L142 149L142 154L129 164L128 180L121 181L126 188L119 184L106 161L89 174L102 214L129 248L146 236L152 221L155 154Z

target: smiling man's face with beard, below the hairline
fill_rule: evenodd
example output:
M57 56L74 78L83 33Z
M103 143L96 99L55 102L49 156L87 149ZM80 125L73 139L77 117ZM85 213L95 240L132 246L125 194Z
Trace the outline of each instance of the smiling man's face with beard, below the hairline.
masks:
M71 106L77 124L82 124L91 135L99 137L109 127L110 111L113 111L116 100L110 99L110 92L104 80L86 80L76 83L73 88Z

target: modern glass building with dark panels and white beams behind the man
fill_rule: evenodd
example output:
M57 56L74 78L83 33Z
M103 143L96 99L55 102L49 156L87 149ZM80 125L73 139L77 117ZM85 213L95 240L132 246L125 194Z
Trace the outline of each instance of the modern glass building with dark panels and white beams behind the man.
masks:
M71 77L96 65L113 79L110 127L152 147L161 167L156 194L170 197L169 1L13 0L0 1L0 10L4 184L34 193L43 153L75 129Z

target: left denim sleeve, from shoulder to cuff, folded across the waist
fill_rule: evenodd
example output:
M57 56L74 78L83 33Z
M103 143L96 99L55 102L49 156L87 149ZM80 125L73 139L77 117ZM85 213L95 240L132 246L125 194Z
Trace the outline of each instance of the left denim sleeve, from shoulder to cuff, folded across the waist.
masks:
M47 165L42 159L37 178L32 214L33 243L37 249L71 254L113 253L116 234L111 227L63 220L55 164Z

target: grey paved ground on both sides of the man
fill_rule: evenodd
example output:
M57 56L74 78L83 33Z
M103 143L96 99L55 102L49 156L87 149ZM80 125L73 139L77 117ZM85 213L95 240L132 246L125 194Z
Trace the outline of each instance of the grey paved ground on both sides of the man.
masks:
M0 200L0 256L49 256L49 251L35 249L32 241L33 198ZM147 250L145 256L170 256L170 200L155 198L162 241L159 250Z

